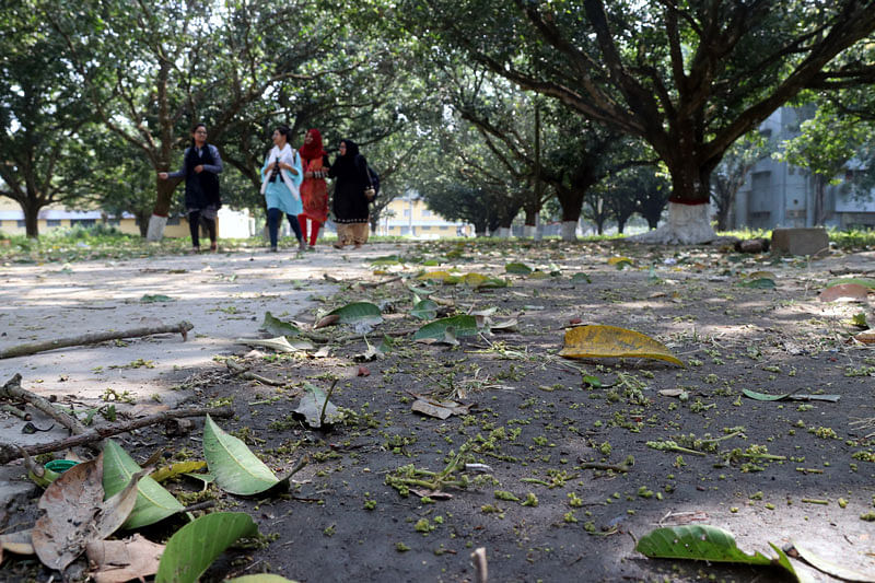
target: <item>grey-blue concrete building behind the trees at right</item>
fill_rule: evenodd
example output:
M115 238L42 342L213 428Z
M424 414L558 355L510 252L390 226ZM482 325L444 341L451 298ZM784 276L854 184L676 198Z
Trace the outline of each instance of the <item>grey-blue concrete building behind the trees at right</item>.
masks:
M775 145L798 136L800 124L812 117L812 108L781 107L761 126ZM828 186L825 210L826 226L839 229L875 228L875 193L868 200L852 196L848 180L860 168L851 161L841 184ZM777 226L814 226L815 183L806 168L767 158L748 174L735 197L730 224L736 229L774 229Z

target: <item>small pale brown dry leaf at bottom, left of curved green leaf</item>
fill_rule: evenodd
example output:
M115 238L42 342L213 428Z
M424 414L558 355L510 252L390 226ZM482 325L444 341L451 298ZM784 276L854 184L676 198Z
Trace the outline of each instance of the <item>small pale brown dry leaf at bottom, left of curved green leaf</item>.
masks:
M136 534L124 540L90 540L85 552L96 569L96 583L124 583L155 574L164 545Z

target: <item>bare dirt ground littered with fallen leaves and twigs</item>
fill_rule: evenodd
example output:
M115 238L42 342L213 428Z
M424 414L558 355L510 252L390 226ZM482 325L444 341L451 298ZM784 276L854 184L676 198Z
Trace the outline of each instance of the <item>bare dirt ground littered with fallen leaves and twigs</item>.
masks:
M536 275L505 272L515 261ZM875 252L809 260L716 247L463 242L67 269L0 268L0 350L73 329L124 329L143 317L190 319L197 334L185 343L158 337L0 360L2 380L20 372L25 388L74 395L82 406L127 390L130 415L230 404L236 416L220 424L278 475L308 458L290 492L273 498L166 485L186 503L214 499L248 512L264 535L225 553L207 580L271 572L304 582L476 581L470 553L483 547L495 582L793 581L777 568L648 559L634 550L650 530L681 524L730 530L746 552L774 556L769 543L805 546L875 578L875 526L864 520L875 512L875 349L849 342L860 329L854 315L875 322L873 295L818 300L830 280L875 277ZM495 308L492 320L515 318L516 329L460 338L459 346L415 342L411 333L424 322L409 314L410 287L425 287L415 277L433 270L506 279L505 288L435 284L432 299L442 315ZM770 272L774 289L742 285L757 271ZM144 303L147 294L172 300ZM368 342L348 326L315 330L328 340L317 342L328 348L318 355L233 341L267 338L258 333L266 311L308 328L317 311L360 301L381 306L384 317ZM686 366L562 359L573 324L646 334ZM380 345L383 335L392 348L369 360L369 342ZM241 381L228 358L284 384ZM136 366L137 359L154 368ZM335 380L330 400L343 421L313 430L292 415L305 383L328 390ZM744 389L815 400L760 401ZM444 420L423 416L411 411L415 395L469 409ZM839 399L817 400L824 395ZM165 446L168 458L196 459L201 427L183 436L143 430L118 442L139 462ZM488 466L447 477L467 478L467 488L423 497L401 483L415 470L443 470L458 454ZM14 530L33 516L34 500L19 501L0 527ZM161 541L183 524L168 520L142 533ZM833 580L794 565L810 580ZM73 574L83 576L83 568L80 561ZM5 580L49 575L27 558L0 567Z

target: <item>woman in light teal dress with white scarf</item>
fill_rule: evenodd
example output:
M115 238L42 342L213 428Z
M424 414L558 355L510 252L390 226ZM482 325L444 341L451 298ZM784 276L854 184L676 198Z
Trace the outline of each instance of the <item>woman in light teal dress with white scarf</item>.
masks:
M265 159L261 167L261 194L267 202L267 225L270 234L270 250L277 250L282 213L289 219L289 225L298 237L298 248L304 250L306 245L301 234L298 215L304 211L301 203L300 186L304 179L301 170L301 156L289 145L288 126L280 126L273 131L273 148Z

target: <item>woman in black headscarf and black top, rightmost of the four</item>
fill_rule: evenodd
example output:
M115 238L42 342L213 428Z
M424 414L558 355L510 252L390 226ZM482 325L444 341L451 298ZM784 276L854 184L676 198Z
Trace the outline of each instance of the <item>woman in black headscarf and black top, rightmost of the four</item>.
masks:
M340 140L339 155L335 159L328 176L335 178L335 196L331 210L337 223L337 243L354 245L358 249L368 242L368 198L364 190L370 186L368 161L359 153L352 140Z

